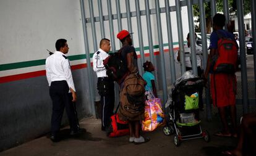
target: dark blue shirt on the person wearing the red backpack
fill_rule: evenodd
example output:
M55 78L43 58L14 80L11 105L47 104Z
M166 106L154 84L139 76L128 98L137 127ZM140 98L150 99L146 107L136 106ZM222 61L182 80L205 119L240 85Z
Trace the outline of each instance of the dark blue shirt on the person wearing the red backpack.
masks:
M234 34L229 33L226 30L218 30L218 32L224 37L224 38L231 38L234 39ZM218 49L218 34L216 31L213 31L210 36L210 46L209 49Z

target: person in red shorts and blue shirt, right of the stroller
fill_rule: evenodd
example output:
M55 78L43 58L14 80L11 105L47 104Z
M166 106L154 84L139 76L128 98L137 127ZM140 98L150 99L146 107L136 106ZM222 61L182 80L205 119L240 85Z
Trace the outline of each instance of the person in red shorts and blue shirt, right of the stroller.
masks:
M219 53L218 40L220 35L224 38L234 39L234 35L226 30L223 30L225 25L225 16L216 14L213 17L213 32L210 36L210 54L208 55L207 68L205 70L205 80L207 81L208 73L210 73L210 89L213 104L218 107L220 113L223 130L216 133L215 136L237 137L236 126L236 75L234 73L215 73L213 71L213 60ZM235 40L235 39L234 39ZM234 41L236 42L236 41ZM236 52L237 54L237 52ZM229 129L226 108L230 107L231 126Z

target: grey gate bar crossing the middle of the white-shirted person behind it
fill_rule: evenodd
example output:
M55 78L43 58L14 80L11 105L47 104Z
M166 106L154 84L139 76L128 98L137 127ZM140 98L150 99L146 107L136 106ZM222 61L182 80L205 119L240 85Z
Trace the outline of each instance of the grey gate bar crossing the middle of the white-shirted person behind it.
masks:
M192 1L187 0L187 14L189 16L189 39L190 39L190 58L192 62L192 69L194 75L197 73L197 55L195 54L195 30L194 30L194 18Z

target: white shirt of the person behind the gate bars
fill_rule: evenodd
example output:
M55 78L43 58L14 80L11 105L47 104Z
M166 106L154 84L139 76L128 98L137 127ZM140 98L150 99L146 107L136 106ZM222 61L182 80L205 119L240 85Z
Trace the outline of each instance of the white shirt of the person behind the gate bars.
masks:
M187 44L184 46L184 52L185 52L185 65L186 67L192 67L191 60L190 60L190 47L187 46ZM197 67L202 67L202 47L195 44L195 54L197 55ZM178 52L176 52L174 59L178 63L177 60Z

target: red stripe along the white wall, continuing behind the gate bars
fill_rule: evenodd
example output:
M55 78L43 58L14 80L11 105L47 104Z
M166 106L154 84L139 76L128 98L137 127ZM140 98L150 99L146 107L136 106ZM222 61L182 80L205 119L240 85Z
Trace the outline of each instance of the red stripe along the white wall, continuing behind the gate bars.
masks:
M176 47L173 50L176 51L177 49L179 49L179 47ZM169 49L164 49L164 52L169 52ZM160 54L159 51L154 52L154 55L159 55L159 54ZM149 56L150 56L149 53L145 54L145 57L149 57ZM138 55L138 57L140 58L140 55ZM91 62L91 67L92 66L93 66L93 63ZM79 64L79 65L71 66L72 70L77 70L81 68L87 68L87 64ZM11 76L3 76L3 77L0 77L0 83L7 83L10 81L23 80L27 78L34 78L37 76L44 76L44 75L46 75L45 70L40 70L40 71L30 72L30 73L22 73L22 74L11 75Z

